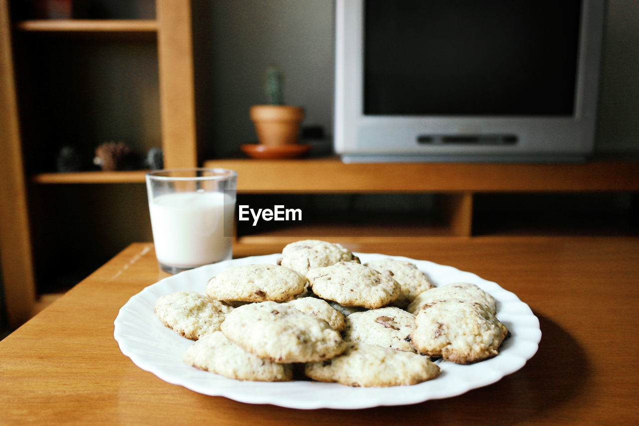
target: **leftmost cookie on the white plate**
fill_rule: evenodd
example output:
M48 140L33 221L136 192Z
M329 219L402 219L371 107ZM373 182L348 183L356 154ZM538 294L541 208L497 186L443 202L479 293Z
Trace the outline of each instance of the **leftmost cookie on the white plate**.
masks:
M190 340L220 329L233 308L197 292L175 292L162 296L153 311L164 326Z

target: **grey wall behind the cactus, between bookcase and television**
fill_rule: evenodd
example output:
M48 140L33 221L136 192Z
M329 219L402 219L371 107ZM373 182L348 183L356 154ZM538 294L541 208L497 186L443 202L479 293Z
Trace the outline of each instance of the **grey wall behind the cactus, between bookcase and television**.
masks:
M266 102L268 65L286 73L284 100L305 125L332 132L332 0L193 0L198 138L208 157L255 141L249 107Z

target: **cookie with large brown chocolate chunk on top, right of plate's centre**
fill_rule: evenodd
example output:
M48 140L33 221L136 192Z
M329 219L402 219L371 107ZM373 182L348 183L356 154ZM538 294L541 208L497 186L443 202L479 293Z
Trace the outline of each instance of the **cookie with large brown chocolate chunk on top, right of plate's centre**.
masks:
M342 337L346 342L415 352L415 348L406 341L406 337L414 330L415 315L396 306L387 306L348 315Z

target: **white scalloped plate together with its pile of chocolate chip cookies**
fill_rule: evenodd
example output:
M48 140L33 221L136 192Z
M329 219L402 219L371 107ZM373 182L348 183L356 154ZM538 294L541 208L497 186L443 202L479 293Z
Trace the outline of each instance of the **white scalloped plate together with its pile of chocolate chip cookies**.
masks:
M360 409L495 383L541 331L527 304L472 272L304 240L144 288L114 337L139 368L204 395Z

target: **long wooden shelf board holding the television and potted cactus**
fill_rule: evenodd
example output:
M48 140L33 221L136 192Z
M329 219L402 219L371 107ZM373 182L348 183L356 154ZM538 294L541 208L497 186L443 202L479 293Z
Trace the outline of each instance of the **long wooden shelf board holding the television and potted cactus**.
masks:
M639 191L639 161L344 164L330 157L210 160L204 166L237 171L239 193Z

